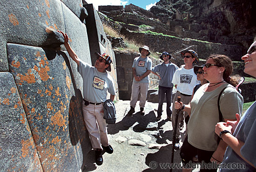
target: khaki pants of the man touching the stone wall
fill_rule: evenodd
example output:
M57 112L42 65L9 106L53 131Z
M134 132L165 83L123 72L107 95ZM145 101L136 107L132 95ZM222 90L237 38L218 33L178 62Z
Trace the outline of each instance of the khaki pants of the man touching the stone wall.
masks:
M83 101L82 107L85 125L89 132L93 149L102 149L101 145L108 146L108 131L106 120L103 119L103 104L85 106Z

